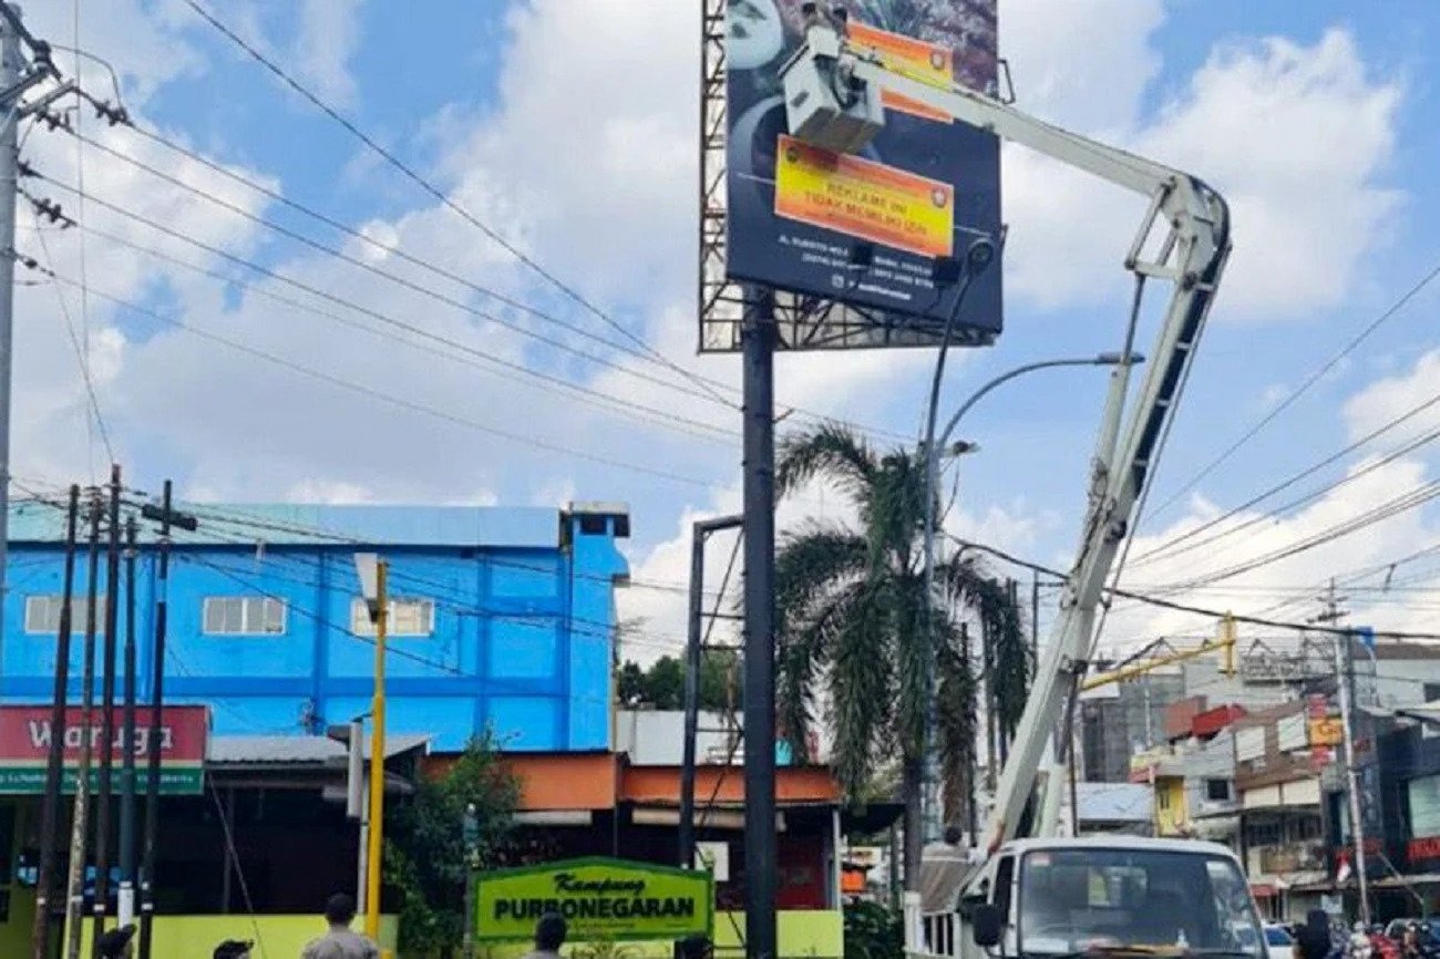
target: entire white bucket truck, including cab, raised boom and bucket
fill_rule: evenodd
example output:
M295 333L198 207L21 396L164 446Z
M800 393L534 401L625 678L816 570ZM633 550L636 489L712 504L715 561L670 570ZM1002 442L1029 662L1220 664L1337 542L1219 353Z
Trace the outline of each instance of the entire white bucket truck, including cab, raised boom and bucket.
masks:
M1175 405L1230 256L1230 209L1198 177L1027 115L989 92L909 72L850 37L844 7L802 6L805 42L782 66L792 135L855 153L884 125L897 94L956 122L989 131L1142 194L1145 216L1123 265L1135 297L1125 351L1139 330L1148 284L1165 284L1145 380L1130 395L1132 363L1112 372L1076 560L1060 615L976 842L949 935L912 953L1074 958L1083 955L1253 956L1264 937L1244 871L1223 845L1200 841L1058 835L1064 762L1056 729L1083 680L1096 618L1165 445Z

